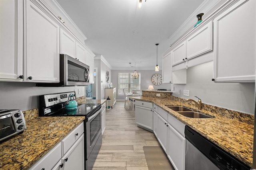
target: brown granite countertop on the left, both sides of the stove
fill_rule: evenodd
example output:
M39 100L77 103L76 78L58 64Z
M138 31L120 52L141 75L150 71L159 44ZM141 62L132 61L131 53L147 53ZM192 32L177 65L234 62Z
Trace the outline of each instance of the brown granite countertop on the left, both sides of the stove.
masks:
M79 103L101 103L106 100L80 100ZM38 109L22 111L26 127L0 142L0 169L25 170L85 119L84 116L38 117Z

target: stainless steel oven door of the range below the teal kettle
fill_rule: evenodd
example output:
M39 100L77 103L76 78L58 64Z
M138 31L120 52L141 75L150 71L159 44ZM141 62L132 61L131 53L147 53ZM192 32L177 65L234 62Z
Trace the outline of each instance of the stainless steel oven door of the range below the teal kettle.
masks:
M89 158L98 138L101 135L101 109L88 117L86 122L86 157Z

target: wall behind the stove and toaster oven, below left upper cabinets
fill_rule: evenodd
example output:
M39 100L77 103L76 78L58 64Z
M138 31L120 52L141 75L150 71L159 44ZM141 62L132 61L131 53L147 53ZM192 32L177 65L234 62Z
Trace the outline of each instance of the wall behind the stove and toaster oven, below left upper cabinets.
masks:
M78 94L78 89L81 93ZM39 96L76 90L76 96L84 96L84 86L36 87L31 82L0 82L0 109L26 111L39 107Z

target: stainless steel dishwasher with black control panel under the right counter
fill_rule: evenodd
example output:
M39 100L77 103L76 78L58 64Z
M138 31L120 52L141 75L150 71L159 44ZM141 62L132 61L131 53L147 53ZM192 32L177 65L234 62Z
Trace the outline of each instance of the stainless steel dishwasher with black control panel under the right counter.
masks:
M249 166L188 126L185 127L185 138L185 170L250 170Z

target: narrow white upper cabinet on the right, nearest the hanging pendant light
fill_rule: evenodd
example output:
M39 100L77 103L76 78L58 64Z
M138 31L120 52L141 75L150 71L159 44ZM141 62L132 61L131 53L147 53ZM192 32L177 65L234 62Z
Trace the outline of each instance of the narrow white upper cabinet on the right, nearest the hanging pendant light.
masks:
M163 57L162 82L172 82L172 56L170 52Z

